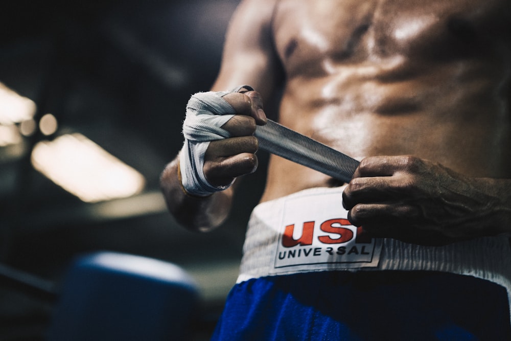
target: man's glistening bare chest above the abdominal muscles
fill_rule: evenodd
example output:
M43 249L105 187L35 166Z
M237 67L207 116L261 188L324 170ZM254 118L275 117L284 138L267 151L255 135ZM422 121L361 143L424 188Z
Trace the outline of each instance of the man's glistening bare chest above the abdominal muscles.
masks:
M288 71L318 59L457 58L508 44L508 0L282 0L275 43Z

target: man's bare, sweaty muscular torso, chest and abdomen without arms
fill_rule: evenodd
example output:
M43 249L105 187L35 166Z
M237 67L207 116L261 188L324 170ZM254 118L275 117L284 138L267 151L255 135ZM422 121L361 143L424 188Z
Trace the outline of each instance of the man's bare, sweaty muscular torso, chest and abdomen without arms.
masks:
M510 20L508 0L282 0L279 121L359 160L413 154L510 177ZM262 200L335 185L272 156Z

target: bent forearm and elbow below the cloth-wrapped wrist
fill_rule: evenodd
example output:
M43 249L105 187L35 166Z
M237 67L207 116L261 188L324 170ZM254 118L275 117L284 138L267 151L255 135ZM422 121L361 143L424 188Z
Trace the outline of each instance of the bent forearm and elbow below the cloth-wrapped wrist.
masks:
M229 214L232 190L207 197L188 195L179 179L179 158L176 157L161 174L160 186L167 207L175 219L191 231L206 232L219 226Z

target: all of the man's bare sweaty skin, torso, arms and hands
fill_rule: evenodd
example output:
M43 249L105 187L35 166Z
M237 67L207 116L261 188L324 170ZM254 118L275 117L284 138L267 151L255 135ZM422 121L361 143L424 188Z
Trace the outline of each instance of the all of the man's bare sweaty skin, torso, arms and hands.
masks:
M232 100L249 103L226 124L245 140L212 143L206 177L257 167L251 133L282 83L280 123L361 160L344 191L352 223L420 244L509 235L510 23L507 0L242 2L213 90L257 92ZM175 167L161 180L171 212L191 229L218 225L233 189L191 198ZM339 185L272 155L261 200Z

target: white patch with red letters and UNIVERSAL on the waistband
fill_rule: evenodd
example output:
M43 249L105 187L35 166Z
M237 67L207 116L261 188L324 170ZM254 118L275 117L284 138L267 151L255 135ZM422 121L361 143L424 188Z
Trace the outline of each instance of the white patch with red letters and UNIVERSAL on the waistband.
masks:
M275 274L378 265L381 240L347 220L341 190L288 198L279 228Z

